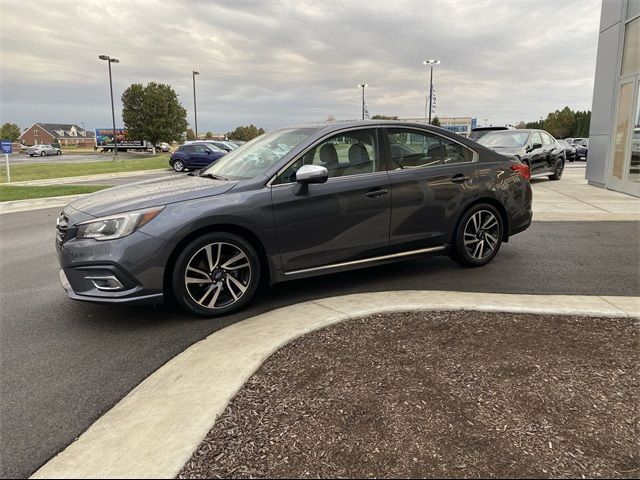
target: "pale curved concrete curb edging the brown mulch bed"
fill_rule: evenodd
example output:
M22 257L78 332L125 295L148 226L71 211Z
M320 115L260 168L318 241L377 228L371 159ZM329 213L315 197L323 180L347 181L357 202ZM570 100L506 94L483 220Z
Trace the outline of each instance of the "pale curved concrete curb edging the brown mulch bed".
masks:
M640 318L640 297L402 291L284 307L187 348L31 478L175 478L237 391L282 346L352 318L429 310Z

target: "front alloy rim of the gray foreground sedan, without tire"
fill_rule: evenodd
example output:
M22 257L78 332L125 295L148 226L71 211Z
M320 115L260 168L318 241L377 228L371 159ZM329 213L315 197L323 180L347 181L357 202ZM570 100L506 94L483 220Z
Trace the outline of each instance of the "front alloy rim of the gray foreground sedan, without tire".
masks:
M194 302L204 308L220 309L242 298L249 288L251 274L247 252L231 243L216 242L191 257L184 282Z

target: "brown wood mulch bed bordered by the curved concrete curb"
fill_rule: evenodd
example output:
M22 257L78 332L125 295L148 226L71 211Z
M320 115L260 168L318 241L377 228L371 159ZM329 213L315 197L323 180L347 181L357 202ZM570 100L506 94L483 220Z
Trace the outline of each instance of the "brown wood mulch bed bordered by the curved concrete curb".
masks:
M178 478L640 476L640 322L380 315L272 355Z

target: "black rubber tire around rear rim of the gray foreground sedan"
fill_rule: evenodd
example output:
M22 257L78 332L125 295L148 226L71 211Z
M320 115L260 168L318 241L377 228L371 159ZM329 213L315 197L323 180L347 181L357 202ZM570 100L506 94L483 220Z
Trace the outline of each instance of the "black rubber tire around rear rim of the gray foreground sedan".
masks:
M495 245L493 246L489 254L483 255L483 252L479 252L480 255L474 256L473 250L475 248L482 247L479 247L478 243L470 243L469 245L465 245L465 238L470 238L466 235L466 233L468 232L469 227L471 227L472 230L474 229L472 218L478 213L480 213L481 219L486 219L484 221L481 221L480 226L482 226L483 224L491 225L491 223L489 223L490 216L492 216L496 220L496 225L495 228L493 228L493 226L492 228L487 228L482 235L474 232L475 236L479 236L479 238L482 238L482 240L479 241L487 242L487 246L490 246L490 242L493 242L494 240L492 239L495 238ZM476 216L476 219L477 218L478 217ZM489 236L487 236L487 232L489 233ZM500 246L502 245L503 232L504 219L502 218L502 215L497 208L488 203L479 203L477 205L474 205L469 210L467 210L458 221L458 225L456 226L456 231L454 234L453 246L451 247L449 256L464 267L482 267L483 265L486 265L491 260L493 260L493 257L498 254ZM472 242L473 240L469 239L468 241ZM469 251L470 249L472 250L471 252Z

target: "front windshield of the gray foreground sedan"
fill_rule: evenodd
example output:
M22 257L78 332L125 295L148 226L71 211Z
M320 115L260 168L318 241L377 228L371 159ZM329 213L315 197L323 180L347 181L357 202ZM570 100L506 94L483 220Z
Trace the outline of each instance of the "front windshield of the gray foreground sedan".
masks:
M271 167L317 128L296 128L265 133L227 153L202 172L229 180L249 180L264 175Z

